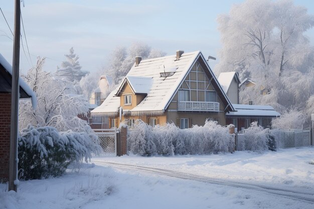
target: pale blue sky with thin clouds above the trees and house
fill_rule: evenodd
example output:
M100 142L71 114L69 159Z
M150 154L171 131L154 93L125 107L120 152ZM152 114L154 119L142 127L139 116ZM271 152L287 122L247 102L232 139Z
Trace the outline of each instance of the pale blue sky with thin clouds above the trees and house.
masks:
M229 12L240 0L221 1L61 1L24 0L22 15L32 62L47 57L45 70L55 71L73 46L84 70L100 69L116 46L142 42L167 55L181 49L201 50L217 57L221 48L217 16ZM132 3L131 3L132 2ZM314 15L314 3L295 0ZM13 30L14 1L1 0ZM0 53L12 62L13 38L0 14ZM306 32L314 45L314 30ZM24 43L25 44L25 43ZM25 47L26 49L26 47ZM210 61L214 66L217 61ZM21 48L21 69L31 67Z

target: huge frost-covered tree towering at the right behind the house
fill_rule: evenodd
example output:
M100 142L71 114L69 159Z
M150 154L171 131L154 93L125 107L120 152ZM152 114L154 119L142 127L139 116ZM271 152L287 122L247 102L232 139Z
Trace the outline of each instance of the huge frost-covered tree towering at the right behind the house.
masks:
M255 88L244 88L240 100L270 104L279 112L302 111L313 95L314 51L304 35L314 26L314 16L292 1L248 0L218 17L223 48L221 72L251 77ZM260 95L260 88L268 95Z

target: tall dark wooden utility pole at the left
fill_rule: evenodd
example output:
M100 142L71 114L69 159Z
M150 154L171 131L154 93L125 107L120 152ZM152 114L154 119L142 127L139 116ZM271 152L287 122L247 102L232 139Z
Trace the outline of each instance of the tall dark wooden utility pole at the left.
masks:
M20 70L20 34L21 34L21 3L15 0L14 44L12 65L12 92L11 92L11 132L10 132L10 159L9 159L9 191L17 191L15 180L18 179L18 124L19 124L19 70Z

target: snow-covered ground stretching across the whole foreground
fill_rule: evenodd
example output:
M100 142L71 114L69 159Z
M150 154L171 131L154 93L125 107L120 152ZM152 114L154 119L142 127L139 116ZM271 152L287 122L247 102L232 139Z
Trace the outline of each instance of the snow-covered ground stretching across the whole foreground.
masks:
M0 184L0 208L314 208L314 148L92 162L60 178L21 181L18 193Z

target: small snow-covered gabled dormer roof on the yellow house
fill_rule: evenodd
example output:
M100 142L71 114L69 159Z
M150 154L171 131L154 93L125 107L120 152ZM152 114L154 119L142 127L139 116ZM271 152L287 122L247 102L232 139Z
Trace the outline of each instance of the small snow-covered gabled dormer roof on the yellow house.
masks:
M123 84L120 85L116 95L121 91L125 82L128 82L134 94L148 94L152 85L152 78L142 76L125 76Z

